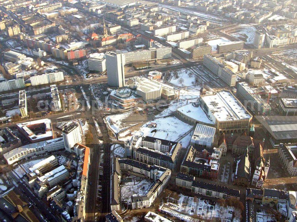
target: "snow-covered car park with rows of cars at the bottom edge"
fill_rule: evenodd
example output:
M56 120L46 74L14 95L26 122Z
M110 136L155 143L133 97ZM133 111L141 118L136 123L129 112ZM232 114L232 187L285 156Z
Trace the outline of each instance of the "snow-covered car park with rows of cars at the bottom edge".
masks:
M159 207L160 210L181 219L182 221L197 221L192 216L198 215L201 219L212 220L220 218L222 221L240 222L241 212L235 207L221 207L218 204L211 205L208 200L201 200L196 197L187 197L180 194L176 201L169 201ZM234 216L233 216L234 214Z

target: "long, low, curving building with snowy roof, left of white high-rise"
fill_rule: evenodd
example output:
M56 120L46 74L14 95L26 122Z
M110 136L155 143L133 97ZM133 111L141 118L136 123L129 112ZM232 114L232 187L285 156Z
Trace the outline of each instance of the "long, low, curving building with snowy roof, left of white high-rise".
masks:
M46 154L64 148L64 139L60 137L21 146L3 154L3 156L7 164L11 165L15 162L18 162L19 160L29 158L31 156Z

